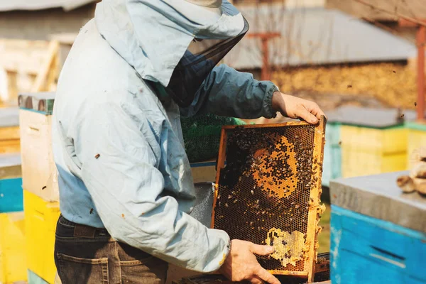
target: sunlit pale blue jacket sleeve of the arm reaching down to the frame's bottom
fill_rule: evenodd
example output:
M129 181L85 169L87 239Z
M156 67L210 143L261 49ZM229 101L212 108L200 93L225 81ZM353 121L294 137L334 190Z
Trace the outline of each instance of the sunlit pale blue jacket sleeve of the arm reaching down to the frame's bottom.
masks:
M180 211L165 194L153 145L161 146L144 116L102 104L87 121L78 141L82 180L111 236L169 263L216 271L229 253L229 236Z

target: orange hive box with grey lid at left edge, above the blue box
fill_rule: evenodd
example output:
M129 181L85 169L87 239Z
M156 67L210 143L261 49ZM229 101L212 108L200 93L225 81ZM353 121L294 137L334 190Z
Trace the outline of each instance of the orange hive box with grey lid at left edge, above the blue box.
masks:
M0 154L19 153L19 109L9 107L0 109Z

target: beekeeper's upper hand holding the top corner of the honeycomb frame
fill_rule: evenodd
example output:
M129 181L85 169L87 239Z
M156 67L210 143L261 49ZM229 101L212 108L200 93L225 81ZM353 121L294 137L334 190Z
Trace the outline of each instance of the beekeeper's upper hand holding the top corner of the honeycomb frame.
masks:
M317 124L321 116L325 116L324 111L315 102L281 92L273 93L272 107L275 111L280 111L283 116L291 119L303 119L310 124Z

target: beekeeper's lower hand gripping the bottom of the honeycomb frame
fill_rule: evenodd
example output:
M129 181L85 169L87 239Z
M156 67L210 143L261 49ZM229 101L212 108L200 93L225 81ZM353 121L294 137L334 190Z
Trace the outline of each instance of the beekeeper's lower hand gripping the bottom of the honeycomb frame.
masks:
M266 281L271 284L280 284L280 281L271 273L262 268L256 256L267 256L273 253L272 246L261 246L250 241L232 240L231 251L225 259L219 272L231 281L249 280L253 284Z

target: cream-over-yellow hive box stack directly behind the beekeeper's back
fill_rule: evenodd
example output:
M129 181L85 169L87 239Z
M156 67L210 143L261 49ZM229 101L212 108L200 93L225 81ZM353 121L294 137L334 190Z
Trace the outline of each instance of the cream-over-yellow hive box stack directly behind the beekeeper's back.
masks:
M19 124L26 224L28 282L53 283L55 229L59 211L58 173L53 162L53 93L21 94Z

